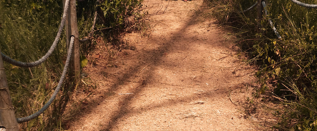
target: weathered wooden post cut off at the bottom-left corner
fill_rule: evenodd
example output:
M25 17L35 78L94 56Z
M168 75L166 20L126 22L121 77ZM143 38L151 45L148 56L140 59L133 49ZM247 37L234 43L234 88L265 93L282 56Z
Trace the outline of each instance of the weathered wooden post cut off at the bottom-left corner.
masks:
M1 49L0 49L1 53ZM19 125L14 115L14 107L8 88L2 57L0 56L0 130L19 131Z

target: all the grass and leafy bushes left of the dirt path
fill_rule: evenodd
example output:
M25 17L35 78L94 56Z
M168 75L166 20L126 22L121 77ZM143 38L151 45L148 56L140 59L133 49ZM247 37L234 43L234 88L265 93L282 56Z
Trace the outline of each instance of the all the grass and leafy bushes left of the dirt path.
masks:
M97 44L94 38L116 41L116 35L140 23L142 18L142 0L81 0L77 1L76 6L80 38L88 36L94 13L99 11L103 14L97 17L94 35L91 37L93 40L80 45L82 66L87 62L85 54ZM0 0L1 51L22 62L38 60L52 45L61 16L61 0ZM102 22L103 18L107 20L107 24ZM65 42L65 35L62 34L52 56L38 67L20 68L4 62L16 117L35 113L49 100L66 60ZM87 98L91 97L97 85L89 78L83 77L82 81L80 88L74 88L72 81L65 81L50 108L38 118L21 123L20 129L67 130L67 121L73 119L81 102L86 99L69 104L72 94L78 90L86 90Z

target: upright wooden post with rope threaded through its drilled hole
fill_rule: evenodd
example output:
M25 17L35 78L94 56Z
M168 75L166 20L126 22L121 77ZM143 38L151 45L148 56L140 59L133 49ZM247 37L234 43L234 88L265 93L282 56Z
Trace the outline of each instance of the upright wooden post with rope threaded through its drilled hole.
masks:
M65 7L65 1L63 0L63 5ZM70 36L74 35L74 45L72 55L70 57L69 62L69 76L74 78L75 83L80 83L81 75L81 65L80 65L80 53L79 53L79 39L78 39L78 27L77 27L77 16L76 16L76 0L69 0L68 6L68 14L66 16L65 22L65 30L66 30L66 48L68 51Z

